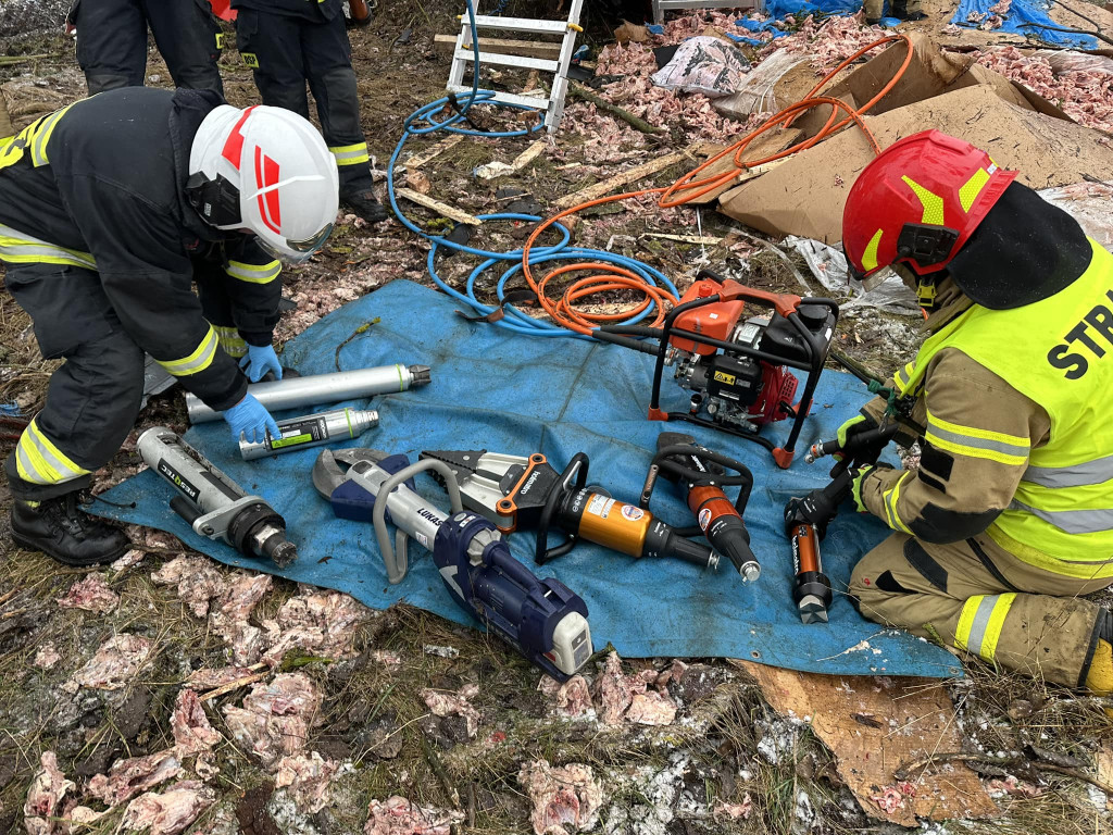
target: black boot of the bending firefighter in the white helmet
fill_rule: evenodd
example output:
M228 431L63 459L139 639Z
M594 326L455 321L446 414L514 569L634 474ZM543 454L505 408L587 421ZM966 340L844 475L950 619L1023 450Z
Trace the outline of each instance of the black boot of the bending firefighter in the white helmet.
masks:
M67 566L97 566L124 556L131 547L119 528L81 510L80 492L11 508L11 538L30 551L42 551Z

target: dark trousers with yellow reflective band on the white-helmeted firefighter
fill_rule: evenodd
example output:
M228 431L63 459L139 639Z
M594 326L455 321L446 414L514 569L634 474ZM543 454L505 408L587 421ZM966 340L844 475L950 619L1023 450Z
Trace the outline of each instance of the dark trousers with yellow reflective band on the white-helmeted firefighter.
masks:
M42 501L88 487L119 450L139 414L144 351L91 269L8 264L4 284L31 316L42 356L66 361L4 464L14 498ZM235 334L219 285L200 283L198 291L217 332Z

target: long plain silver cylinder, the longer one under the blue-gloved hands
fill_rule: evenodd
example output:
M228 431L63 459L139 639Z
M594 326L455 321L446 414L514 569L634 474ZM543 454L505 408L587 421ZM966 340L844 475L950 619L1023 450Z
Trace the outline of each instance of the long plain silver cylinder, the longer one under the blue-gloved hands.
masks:
M335 374L315 374L304 377L284 377L270 383L253 383L247 391L270 412L303 409L322 403L341 403L345 400L371 397L416 389L430 382L427 365L380 365L375 369L341 371ZM219 420L216 412L201 403L200 397L186 394L186 412L190 423Z

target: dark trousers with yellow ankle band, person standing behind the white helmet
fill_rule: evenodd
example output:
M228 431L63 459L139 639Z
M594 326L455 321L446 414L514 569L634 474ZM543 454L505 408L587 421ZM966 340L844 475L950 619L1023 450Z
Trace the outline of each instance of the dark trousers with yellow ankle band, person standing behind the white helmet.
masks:
M255 75L264 105L284 107L308 119L308 81L321 132L336 158L341 194L371 188L371 157L359 127L359 96L344 16L312 22L239 9L236 42Z

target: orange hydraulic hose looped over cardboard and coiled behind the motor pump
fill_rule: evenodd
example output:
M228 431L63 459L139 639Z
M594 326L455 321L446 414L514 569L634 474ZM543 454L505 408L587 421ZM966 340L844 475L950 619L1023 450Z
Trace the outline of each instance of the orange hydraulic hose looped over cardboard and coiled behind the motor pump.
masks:
M907 55L905 56L904 62L894 73L893 78L886 84L874 98L867 101L859 108L853 108L840 99L831 98L829 96L817 96L819 92L835 76L841 72L846 67L856 61L858 58L864 56L866 52L875 49L885 43L895 43L897 41L903 41L905 47L907 47ZM908 66L912 63L913 57L913 45L908 36L903 32L896 35L890 35L885 38L880 38L868 46L863 47L853 56L841 61L835 69L828 72L824 78L808 91L799 101L789 105L777 114L774 114L769 119L758 126L755 130L750 131L737 143L728 148L719 151L715 156L710 157L707 161L697 166L692 170L688 171L686 175L680 177L676 183L667 187L659 188L643 188L637 191L627 191L624 194L611 195L609 197L600 197L594 200L588 200L578 206L572 206L571 208L564 209L563 212L553 215L549 219L542 222L533 229L533 233L525 242L525 246L522 247L522 275L525 277L526 283L530 285L536 296L538 301L541 303L541 307L556 324L574 331L581 334L590 334L600 324L605 324L607 322L614 321L618 318L626 318L630 315L637 315L644 311L650 304L657 306L657 317L650 323L651 327L656 327L661 324L664 318L666 310L664 303L668 302L670 305L676 305L680 299L673 296L671 293L667 292L662 287L657 287L646 283L639 275L632 273L628 269L614 264L604 264L601 262L581 262L578 264L569 264L562 267L558 267L545 274L542 278L538 279L533 275L533 271L530 265L530 249L534 242L541 237L545 229L548 229L553 224L558 223L561 218L568 217L569 215L574 215L583 209L591 208L592 206L601 206L607 203L617 203L619 200L627 200L632 197L641 197L649 194L661 195L658 200L658 206L661 208L672 208L676 206L682 206L697 197L701 197L710 191L713 191L733 181L739 174L754 168L759 165L765 165L777 159L781 159L791 154L796 154L800 150L807 150L818 143L826 139L831 134L841 130L844 127L849 125L851 121L861 128L861 131L866 135L869 140L870 146L875 154L881 153L881 147L878 145L877 139L870 132L869 128L866 126L865 120L861 118L863 115L868 112L883 97L885 97L900 80ZM829 105L831 108L830 116L827 117L827 121L824 122L823 128L810 137L809 139L804 139L795 145L785 148L781 151L771 154L761 159L751 159L746 163L742 161L742 155L750 144L759 136L768 130L777 127L788 127L794 119L796 119L800 114L810 110L816 107L824 105ZM836 121L836 117L843 110L846 112L846 118L840 121ZM733 157L733 166L723 171L722 174L712 175L705 177L703 179L693 179L701 171L703 171L709 166L718 163L720 159L727 157L728 155ZM574 281L564 291L563 295L559 301L553 301L548 295L545 295L545 285L551 278L555 278L559 275L565 275L568 273L578 273L583 271L591 271L593 275L584 278L579 278ZM633 308L627 310L620 314L602 314L602 313L584 313L573 308L573 302L582 299L587 296L594 295L595 293L602 293L607 291L620 289L620 288L632 288L644 294L644 298Z

